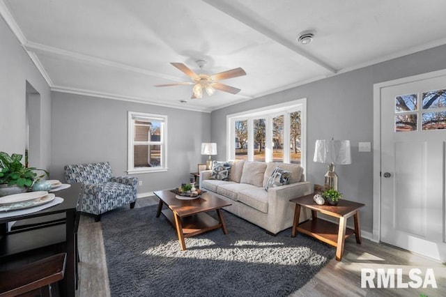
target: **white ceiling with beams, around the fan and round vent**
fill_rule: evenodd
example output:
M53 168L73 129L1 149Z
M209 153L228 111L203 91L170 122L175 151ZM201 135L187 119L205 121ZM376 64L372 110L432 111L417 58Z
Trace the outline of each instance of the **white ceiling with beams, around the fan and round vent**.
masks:
M52 90L211 111L446 44L444 0L0 0ZM302 31L313 43L300 45ZM170 62L242 67L241 89L191 100ZM180 100L187 100L181 103Z

